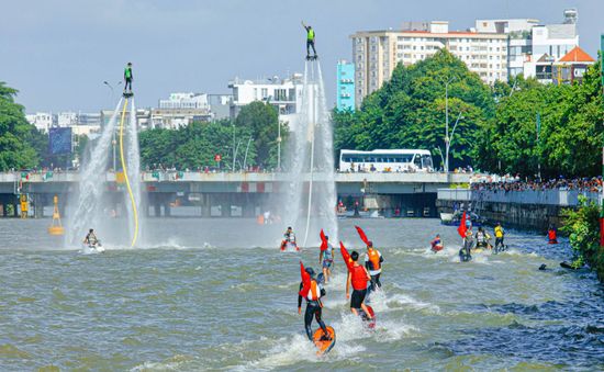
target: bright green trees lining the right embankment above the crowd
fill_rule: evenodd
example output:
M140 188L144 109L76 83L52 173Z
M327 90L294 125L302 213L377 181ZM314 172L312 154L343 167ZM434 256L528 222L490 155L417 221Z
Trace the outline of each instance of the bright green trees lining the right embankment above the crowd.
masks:
M513 88L494 87L499 104L479 144L478 166L534 176L540 162L544 177L600 174L604 142L600 63L590 67L582 84L540 84L519 77Z

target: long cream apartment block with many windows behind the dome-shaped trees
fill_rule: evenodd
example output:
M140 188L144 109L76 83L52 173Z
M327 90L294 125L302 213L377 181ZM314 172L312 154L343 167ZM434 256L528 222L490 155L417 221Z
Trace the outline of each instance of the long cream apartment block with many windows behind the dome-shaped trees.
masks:
M507 80L507 35L449 31L449 23L411 22L402 31L368 31L351 35L356 67L356 105L389 80L399 63L405 66L446 48L486 83Z

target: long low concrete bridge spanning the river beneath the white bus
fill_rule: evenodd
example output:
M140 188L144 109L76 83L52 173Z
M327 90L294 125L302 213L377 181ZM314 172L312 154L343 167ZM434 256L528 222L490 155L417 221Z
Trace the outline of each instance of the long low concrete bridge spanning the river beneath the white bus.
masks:
M68 195L78 192L78 172L30 172L0 173L0 205L2 215L19 215L18 195L25 194L32 214L44 216L44 206L52 205L54 195L61 201L65 213ZM233 206L241 206L236 215L254 216L258 207L271 198L287 193L293 177L303 182L311 180L310 173L262 173L262 172L186 172L148 171L142 173L142 182L148 206L155 215L170 215L177 205L200 206L201 216L233 216ZM348 207L382 210L385 214L399 211L402 215L436 216L438 189L450 184L469 183L469 173L402 173L402 172L355 172L335 174L338 199ZM326 173L312 174L315 183L331 182ZM123 204L124 185L114 172L104 177L110 203L119 210ZM8 207L9 206L9 207ZM220 213L213 212L220 206ZM163 212L163 213L161 213Z

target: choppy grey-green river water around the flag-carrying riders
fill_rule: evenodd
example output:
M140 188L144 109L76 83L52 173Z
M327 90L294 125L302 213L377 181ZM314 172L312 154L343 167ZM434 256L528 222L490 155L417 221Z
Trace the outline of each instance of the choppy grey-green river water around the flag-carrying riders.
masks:
M604 290L558 267L568 243L508 232L507 252L459 263L457 232L438 221L340 221L350 249L354 223L385 259L378 324L349 314L337 253L323 313L337 342L317 358L297 290L299 259L316 269L318 252L279 252L282 226L150 219L154 247L83 255L47 219L1 219L0 370L604 370ZM435 233L451 246L438 255Z

